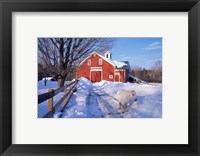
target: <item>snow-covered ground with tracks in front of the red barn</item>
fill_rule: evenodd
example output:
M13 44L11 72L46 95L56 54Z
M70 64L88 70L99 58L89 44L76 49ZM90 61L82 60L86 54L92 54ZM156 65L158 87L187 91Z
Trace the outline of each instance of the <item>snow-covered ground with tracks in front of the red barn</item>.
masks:
M69 83L69 82L66 82ZM43 81L38 83L38 94L55 89L57 82ZM61 118L161 118L162 117L162 85L148 85L136 83L121 83L101 81L91 83L80 78L76 85L77 92L73 93L65 110L59 109L54 117ZM135 90L137 102L128 104L127 110L121 111L117 98L117 91ZM63 93L54 97L54 104L63 96ZM38 117L47 113L47 101L38 105Z

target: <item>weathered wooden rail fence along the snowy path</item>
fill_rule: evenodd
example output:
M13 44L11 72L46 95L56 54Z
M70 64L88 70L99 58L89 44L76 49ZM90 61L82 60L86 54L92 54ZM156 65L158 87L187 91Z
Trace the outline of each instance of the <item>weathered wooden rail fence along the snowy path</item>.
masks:
M48 100L48 112L43 116L43 118L52 118L54 113L58 110L58 108L61 106L62 103L64 103L62 110L66 107L67 103L69 102L74 88L77 84L78 80L67 84L61 88L58 88L56 90L49 89L47 93L38 95L38 104L41 104L42 102ZM53 97L59 94L60 92L64 91L63 97L53 106Z

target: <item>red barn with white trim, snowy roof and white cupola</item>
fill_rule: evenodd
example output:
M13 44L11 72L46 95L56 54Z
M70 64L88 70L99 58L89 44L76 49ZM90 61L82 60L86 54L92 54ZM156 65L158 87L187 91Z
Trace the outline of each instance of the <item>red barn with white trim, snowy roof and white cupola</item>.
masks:
M104 56L94 51L80 63L77 77L85 77L92 82L127 82L129 71L128 61L112 61L109 51Z

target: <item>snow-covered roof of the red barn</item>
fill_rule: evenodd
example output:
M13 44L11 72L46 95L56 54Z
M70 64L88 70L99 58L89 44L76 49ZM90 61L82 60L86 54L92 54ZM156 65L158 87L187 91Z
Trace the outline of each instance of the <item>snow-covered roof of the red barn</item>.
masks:
M124 68L129 68L129 62L128 61L113 61L113 60L110 60L106 57L104 57L104 53L98 53L96 51L92 52L88 57L86 57L81 63L80 65L85 62L85 60L87 60L92 54L98 54L101 58L103 58L104 60L106 60L108 63L110 63L111 65L113 65L115 68L117 69L124 69Z

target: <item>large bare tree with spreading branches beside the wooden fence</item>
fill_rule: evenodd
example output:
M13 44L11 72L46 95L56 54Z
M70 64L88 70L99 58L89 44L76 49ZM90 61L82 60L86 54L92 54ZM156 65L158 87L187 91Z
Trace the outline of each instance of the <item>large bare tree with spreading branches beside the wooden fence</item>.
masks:
M52 75L61 75L58 87L62 87L88 54L109 50L112 45L113 40L109 38L39 38L38 57Z

